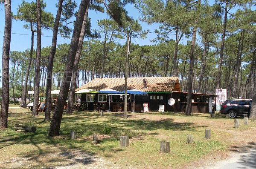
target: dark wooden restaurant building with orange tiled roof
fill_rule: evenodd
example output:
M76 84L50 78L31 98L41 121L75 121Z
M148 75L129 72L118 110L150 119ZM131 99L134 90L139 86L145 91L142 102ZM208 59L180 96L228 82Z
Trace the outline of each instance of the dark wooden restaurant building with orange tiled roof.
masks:
M125 89L125 78L96 78L89 83L84 84L76 89L94 89L96 91L102 89L114 89L123 91ZM185 112L187 92L180 91L178 77L128 77L128 89L137 89L147 92L148 95L135 95L135 110L140 112L143 110L143 103L148 103L150 112L159 111L159 106L164 105L164 111ZM107 95L102 93L82 94L81 104L87 103L88 110L95 109L95 105L105 103L105 110L108 110L108 99L111 97L110 110L123 111L124 97L123 95ZM209 113L210 97L215 95L207 95L200 93L192 93L192 112ZM175 104L170 106L168 100L173 98ZM133 110L134 97L128 96L128 111Z

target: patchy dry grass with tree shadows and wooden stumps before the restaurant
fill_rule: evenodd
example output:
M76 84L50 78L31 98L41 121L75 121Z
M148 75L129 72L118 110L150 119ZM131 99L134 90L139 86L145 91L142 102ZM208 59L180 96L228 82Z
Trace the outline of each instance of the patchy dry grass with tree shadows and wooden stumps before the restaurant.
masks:
M44 113L40 112L37 117L32 117L27 109L9 111L8 129L0 131L0 168L3 167L1 162L5 161L6 167L11 165L8 163L10 159L17 157L33 159L29 164L32 168L60 164L65 166L70 164L67 160L69 157L61 154L77 150L92 153L124 167L175 168L209 153L227 150L231 144L227 138L232 134L224 131L223 127L236 132L256 126L256 123L244 126L240 122L239 129L234 129L233 120L221 115L209 118L207 114L188 117L183 113L173 112L128 113L128 119L125 120L122 113L105 113L100 117L98 112L75 112L71 115L63 114L60 136L47 137L49 122L43 121ZM37 131L16 132L13 126L17 123L36 126ZM204 138L204 129L211 129L211 139ZM76 131L76 140L69 140L70 130ZM100 144L92 146L88 138L93 133L99 137L108 137L102 137ZM130 137L130 146L119 146L119 136L122 135ZM187 135L193 136L192 144L186 144ZM159 152L161 140L170 141L170 154Z

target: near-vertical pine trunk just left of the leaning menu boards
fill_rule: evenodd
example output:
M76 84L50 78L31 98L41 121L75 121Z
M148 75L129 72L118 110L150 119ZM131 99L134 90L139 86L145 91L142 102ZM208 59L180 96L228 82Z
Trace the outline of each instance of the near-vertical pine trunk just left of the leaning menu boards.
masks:
M41 0L37 0L37 36L35 59L34 103L32 116L38 115L39 84L40 84L40 59L41 59Z

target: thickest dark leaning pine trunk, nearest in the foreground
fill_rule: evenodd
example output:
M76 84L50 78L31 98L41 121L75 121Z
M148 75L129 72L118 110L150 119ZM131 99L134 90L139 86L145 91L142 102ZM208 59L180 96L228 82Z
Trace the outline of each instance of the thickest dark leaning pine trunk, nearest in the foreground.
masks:
M71 43L70 43L70 49L68 52L67 64L65 67L63 80L61 84L61 90L60 90L60 94L58 95L58 100L54 109L54 113L52 115L48 136L57 136L60 133L60 126L61 126L61 119L62 119L64 104L66 103L68 90L70 88L73 65L76 57L76 51L79 43L79 37L81 34L84 15L86 12L86 10L84 9L86 9L89 2L90 0L81 0L80 6L79 6L79 11L76 16L76 22L73 30Z

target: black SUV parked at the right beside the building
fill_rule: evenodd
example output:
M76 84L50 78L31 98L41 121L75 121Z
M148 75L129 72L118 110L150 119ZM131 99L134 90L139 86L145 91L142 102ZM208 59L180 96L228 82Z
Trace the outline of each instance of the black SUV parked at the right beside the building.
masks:
M224 115L229 114L231 118L243 116L244 114L247 114L249 117L251 104L251 99L226 100L221 105L220 113Z

